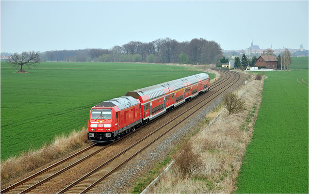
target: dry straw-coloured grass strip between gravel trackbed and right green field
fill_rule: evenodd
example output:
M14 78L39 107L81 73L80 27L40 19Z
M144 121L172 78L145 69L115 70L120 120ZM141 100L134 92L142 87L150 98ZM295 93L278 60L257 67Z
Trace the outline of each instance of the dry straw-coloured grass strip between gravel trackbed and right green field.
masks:
M246 99L246 111L228 115L223 110L217 120L189 141L202 159L202 168L191 178L179 179L171 168L148 193L233 193L245 148L250 142L261 102L262 81L246 75L248 83L237 94ZM219 110L217 110L217 113ZM212 113L211 113L212 114ZM210 114L210 115L211 115ZM249 118L248 115L253 114ZM209 115L207 115L209 116ZM214 115L211 115L211 118Z

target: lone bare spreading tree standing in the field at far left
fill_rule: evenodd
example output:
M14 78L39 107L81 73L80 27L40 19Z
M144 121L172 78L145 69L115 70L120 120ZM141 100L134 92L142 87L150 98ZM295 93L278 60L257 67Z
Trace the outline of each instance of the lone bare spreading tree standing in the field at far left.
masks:
M17 72L25 72L22 70L23 65L26 65L28 69L30 69L31 66L37 66L40 62L40 57L38 52L30 51L30 52L22 52L21 54L14 53L11 55L8 60L10 64L12 64L14 67L19 68L19 71Z

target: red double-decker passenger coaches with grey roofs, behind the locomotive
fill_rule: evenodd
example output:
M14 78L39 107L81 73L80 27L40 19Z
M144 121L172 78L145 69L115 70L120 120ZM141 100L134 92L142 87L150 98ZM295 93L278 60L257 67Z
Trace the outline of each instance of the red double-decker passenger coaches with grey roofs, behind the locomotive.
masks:
M170 111L210 88L209 76L200 73L193 76L168 81L146 88L133 90L125 96L139 99L144 123Z

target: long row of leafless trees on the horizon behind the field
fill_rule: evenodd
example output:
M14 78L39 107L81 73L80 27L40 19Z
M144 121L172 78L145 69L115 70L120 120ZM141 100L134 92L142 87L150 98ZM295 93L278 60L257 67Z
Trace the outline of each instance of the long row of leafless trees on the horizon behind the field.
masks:
M181 60L180 54L187 60ZM130 41L111 49L47 51L41 53L41 58L43 61L211 64L218 62L222 54L218 43L203 38L184 42L160 38L148 43Z

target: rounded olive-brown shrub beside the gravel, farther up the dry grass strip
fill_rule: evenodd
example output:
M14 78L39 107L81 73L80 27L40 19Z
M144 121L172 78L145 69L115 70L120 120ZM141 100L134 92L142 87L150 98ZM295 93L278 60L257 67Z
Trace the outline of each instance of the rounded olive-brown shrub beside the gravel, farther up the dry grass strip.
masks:
M245 101L243 97L238 97L234 93L227 93L223 97L223 106L228 110L228 115L239 113L245 110Z

